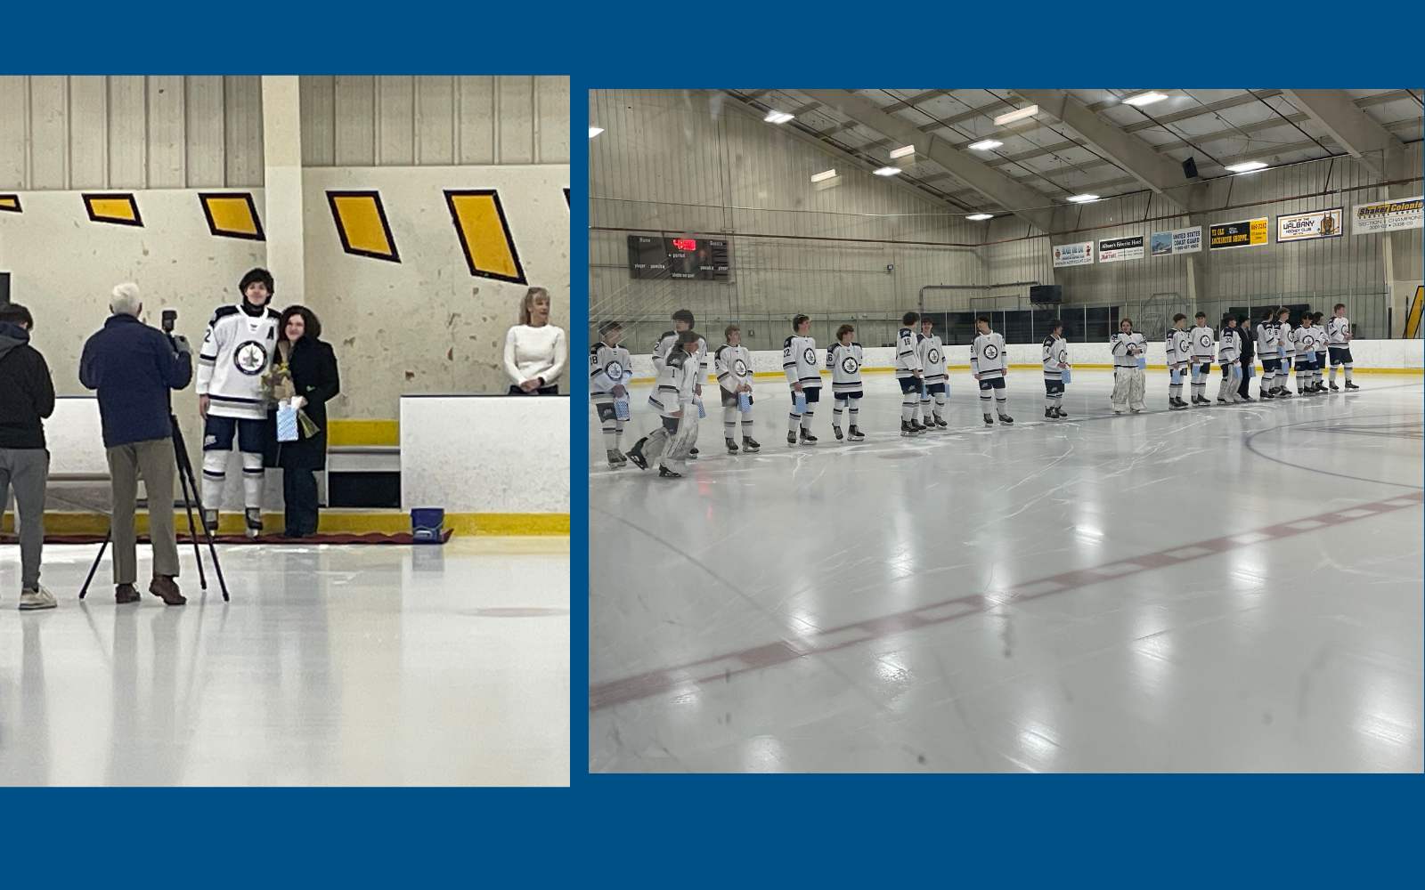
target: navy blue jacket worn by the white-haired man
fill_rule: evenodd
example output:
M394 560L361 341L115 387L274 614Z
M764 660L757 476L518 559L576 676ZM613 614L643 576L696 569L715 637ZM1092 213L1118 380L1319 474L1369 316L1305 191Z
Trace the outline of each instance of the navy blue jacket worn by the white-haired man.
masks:
M192 356L177 352L162 330L131 315L113 315L84 343L80 383L98 390L104 447L168 439L168 390L192 379Z

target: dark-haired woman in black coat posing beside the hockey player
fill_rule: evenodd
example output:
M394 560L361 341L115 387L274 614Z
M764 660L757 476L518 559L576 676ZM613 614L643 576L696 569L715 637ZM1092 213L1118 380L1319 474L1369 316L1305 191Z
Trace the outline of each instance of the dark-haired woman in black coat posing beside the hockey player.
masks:
M336 353L321 339L322 323L306 306L288 306L278 325L282 337L276 345L276 362L286 365L292 384L305 402L302 412L316 424L306 436L298 424L296 441L276 440L276 409L268 414L268 466L282 467L282 498L286 501L289 538L316 534L316 470L326 468L326 403L341 392L336 376Z

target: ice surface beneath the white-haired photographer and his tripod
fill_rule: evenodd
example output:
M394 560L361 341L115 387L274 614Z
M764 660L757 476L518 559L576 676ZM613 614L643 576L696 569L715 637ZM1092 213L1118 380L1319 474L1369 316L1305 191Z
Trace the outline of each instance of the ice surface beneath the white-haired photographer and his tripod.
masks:
M0 548L0 785L567 785L569 545L221 547L232 601L114 604L50 545L20 612ZM138 548L138 572L150 571ZM144 585L147 588L147 584Z

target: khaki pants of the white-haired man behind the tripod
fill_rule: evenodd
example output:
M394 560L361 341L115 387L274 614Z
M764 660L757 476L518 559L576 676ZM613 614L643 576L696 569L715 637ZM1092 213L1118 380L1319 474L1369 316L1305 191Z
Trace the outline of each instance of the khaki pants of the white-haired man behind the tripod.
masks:
M178 577L178 541L174 537L174 441L148 439L107 449L114 507L108 527L114 538L114 584L134 584L134 508L138 478L148 490L148 538L154 545L154 575Z

